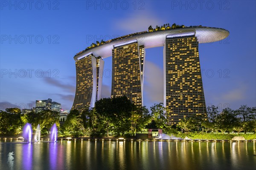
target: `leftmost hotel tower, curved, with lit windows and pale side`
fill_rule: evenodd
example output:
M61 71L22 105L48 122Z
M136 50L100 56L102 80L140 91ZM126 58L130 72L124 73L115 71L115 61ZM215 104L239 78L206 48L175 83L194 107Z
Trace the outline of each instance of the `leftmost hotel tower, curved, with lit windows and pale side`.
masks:
M72 109L82 112L101 98L104 61L89 54L76 61L76 95Z

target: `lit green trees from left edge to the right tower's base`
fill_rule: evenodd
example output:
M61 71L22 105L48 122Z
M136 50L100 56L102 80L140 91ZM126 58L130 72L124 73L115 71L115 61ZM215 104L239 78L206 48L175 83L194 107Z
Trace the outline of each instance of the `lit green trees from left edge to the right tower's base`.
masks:
M39 113L21 114L18 108L0 110L0 135L18 135L29 122L35 131L40 124L41 134L47 135L52 124L56 123L60 136L119 136L135 135L145 128L164 128L167 123L163 104L151 107L136 107L127 97L102 98L95 107L83 112L70 110L67 120L60 125L60 113L44 110Z

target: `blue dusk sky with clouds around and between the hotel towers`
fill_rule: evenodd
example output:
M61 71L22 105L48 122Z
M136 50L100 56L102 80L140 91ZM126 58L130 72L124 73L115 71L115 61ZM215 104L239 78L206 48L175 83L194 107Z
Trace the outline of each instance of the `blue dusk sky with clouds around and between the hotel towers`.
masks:
M227 29L222 41L199 44L207 106L256 106L256 2L0 1L0 109L35 107L51 98L70 109L76 89L73 56L96 40L176 23ZM163 47L146 49L144 104L163 102ZM104 69L111 70L111 58ZM110 97L111 78L103 78Z

